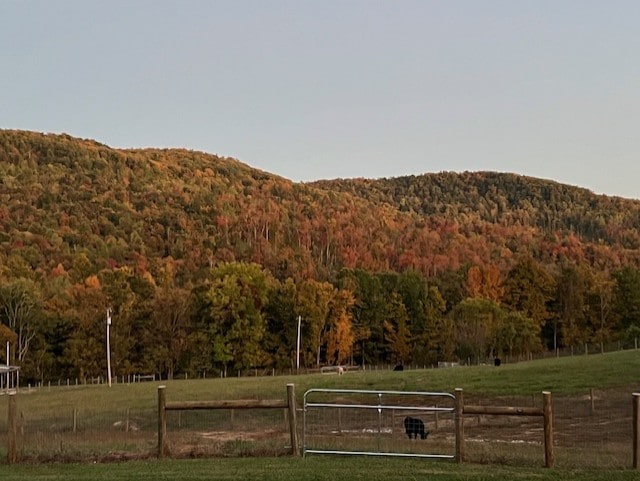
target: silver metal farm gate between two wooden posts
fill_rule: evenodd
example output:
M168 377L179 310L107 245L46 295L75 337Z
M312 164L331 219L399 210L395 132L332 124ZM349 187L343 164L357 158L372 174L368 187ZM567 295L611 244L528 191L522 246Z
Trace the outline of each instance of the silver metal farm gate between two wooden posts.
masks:
M455 401L442 392L310 389L302 454L455 459Z

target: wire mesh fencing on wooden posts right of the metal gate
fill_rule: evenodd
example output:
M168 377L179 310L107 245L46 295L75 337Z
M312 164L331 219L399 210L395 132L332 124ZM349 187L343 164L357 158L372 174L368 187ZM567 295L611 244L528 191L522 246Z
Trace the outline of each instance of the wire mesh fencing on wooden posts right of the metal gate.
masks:
M626 390L554 396L555 465L569 469L631 467L631 399ZM467 397L465 403L540 408L542 397ZM465 416L466 459L470 462L539 466L544 462L543 436L539 418Z

